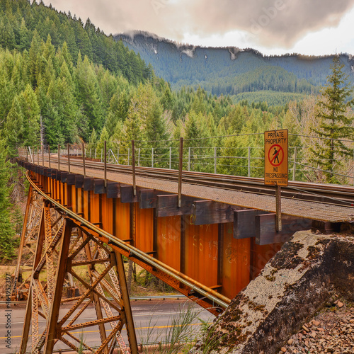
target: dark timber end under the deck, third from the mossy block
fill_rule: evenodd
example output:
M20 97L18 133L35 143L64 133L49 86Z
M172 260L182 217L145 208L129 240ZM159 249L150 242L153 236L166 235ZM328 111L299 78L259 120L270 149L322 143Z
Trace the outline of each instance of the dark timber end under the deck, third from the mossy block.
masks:
M195 200L193 203L193 224L224 224L234 221L234 210L241 207L213 200Z

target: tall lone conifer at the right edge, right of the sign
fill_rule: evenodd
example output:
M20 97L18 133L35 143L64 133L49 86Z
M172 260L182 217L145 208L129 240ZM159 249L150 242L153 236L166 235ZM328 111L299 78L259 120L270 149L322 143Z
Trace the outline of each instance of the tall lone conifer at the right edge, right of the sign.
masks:
M350 149L341 139L353 139L354 127L353 107L354 101L348 98L353 88L348 84L348 75L342 69L344 64L336 55L331 64L332 74L327 76L327 85L322 90L322 97L317 102L319 118L318 127L313 131L323 137L311 149L314 154L314 161L323 169L326 182L339 183L338 177L333 172L343 166L343 159L351 157L353 150Z

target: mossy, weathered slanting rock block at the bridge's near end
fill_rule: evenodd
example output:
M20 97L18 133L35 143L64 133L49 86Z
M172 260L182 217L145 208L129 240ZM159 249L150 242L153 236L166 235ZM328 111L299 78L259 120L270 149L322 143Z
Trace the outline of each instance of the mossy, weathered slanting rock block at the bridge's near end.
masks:
M353 238L297 232L190 353L278 353L335 292L354 300Z

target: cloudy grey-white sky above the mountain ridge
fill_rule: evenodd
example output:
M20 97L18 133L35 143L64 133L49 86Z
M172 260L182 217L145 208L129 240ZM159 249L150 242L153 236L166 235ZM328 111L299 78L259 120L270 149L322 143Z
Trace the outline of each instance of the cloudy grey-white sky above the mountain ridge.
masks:
M354 55L354 0L44 0L106 34L144 30L264 54Z

